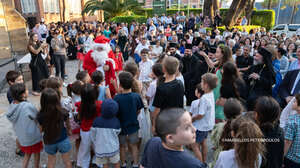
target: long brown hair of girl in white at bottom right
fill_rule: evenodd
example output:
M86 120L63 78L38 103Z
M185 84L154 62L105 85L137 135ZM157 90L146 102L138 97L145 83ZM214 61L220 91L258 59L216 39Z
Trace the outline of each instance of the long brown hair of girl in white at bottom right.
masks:
M263 138L259 127L253 121L240 115L231 122L231 130L235 139L247 140L234 143L235 161L238 167L259 167L259 155L264 158L265 153L264 142L257 140Z

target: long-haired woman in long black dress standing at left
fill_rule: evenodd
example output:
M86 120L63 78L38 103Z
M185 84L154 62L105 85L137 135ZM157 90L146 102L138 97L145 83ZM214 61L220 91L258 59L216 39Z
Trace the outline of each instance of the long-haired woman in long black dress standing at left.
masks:
M30 34L27 50L31 54L29 68L31 69L32 76L32 95L34 96L39 95L39 82L49 77L46 61L42 57L42 52L46 54L46 47L46 42L41 43L37 34Z

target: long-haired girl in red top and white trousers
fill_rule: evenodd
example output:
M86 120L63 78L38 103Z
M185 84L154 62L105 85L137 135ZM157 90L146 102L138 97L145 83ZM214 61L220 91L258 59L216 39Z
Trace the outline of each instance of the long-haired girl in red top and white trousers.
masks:
M96 117L101 113L101 101L98 86L90 83L84 84L80 91L81 102L75 104L78 111L81 142L78 150L77 166L88 168L91 159L91 127Z

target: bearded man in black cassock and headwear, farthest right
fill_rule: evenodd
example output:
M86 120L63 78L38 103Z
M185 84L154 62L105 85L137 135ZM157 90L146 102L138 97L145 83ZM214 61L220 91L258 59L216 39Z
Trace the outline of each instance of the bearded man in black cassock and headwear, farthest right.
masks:
M254 57L253 65L243 75L248 87L248 111L254 109L254 102L258 97L272 96L275 71L271 57L272 53L270 51L261 48Z

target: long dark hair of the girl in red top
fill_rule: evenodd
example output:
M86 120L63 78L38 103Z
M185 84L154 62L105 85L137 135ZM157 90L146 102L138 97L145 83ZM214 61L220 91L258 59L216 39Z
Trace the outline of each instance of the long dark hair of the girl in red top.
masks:
M93 119L96 116L96 100L99 95L99 88L97 85L92 85L86 83L82 86L80 90L81 97L81 109L80 111L80 120L83 118L89 120Z

